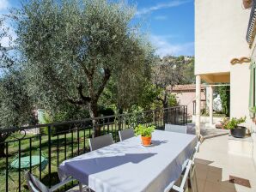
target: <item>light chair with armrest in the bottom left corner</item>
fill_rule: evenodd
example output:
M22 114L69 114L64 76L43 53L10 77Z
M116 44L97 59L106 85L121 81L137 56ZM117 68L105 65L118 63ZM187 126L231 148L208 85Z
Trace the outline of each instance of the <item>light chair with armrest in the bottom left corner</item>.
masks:
M28 189L30 192L52 192L52 191L55 191L55 190L59 189L60 187L64 186L65 184L70 183L71 181L75 180L70 177L70 178L64 180L63 182L58 183L58 184L52 186L52 188L48 189L46 187L46 185L41 183L39 179L34 177L34 175L28 171L25 173L25 178L26 178L27 186L28 186ZM79 187L79 189L80 189L80 191L82 191L81 187Z

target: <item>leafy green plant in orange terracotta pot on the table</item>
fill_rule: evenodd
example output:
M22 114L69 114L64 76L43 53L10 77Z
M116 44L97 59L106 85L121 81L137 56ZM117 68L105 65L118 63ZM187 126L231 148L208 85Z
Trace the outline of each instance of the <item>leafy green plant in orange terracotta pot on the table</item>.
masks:
M151 137L152 133L155 130L155 126L144 126L139 124L135 129L135 135L141 135L143 146L150 146L151 145Z

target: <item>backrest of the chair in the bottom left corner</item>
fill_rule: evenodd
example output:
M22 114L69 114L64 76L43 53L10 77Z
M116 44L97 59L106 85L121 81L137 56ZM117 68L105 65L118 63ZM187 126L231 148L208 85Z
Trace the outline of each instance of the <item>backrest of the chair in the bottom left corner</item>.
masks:
M46 185L41 183L40 180L34 177L30 172L27 171L25 173L25 178L30 192L50 192Z

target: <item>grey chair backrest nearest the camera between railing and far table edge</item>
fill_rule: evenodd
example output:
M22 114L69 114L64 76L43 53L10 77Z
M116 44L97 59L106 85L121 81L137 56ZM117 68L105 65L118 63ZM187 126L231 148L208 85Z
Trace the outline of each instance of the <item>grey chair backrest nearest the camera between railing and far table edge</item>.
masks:
M91 151L113 144L112 134L94 137L88 140Z

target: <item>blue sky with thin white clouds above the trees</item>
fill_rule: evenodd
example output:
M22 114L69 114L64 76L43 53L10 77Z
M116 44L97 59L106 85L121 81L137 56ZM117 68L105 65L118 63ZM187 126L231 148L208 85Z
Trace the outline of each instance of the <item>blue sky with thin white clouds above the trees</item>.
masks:
M137 4L135 20L143 21L143 31L161 57L194 55L193 0L128 0ZM19 0L0 0L0 13L19 6Z

